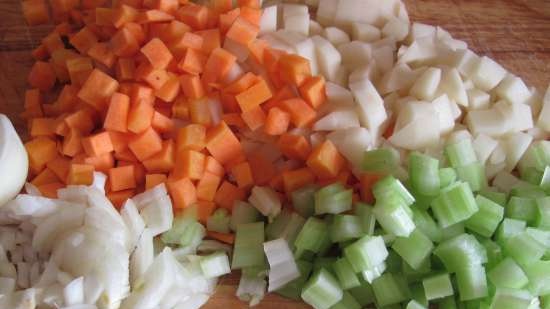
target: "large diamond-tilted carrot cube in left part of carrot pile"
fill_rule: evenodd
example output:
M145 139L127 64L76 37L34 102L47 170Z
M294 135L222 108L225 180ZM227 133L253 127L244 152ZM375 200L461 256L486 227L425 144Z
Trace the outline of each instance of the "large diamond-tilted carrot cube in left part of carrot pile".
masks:
M118 82L98 69L94 69L80 91L78 97L97 110L103 110L107 100L115 93Z

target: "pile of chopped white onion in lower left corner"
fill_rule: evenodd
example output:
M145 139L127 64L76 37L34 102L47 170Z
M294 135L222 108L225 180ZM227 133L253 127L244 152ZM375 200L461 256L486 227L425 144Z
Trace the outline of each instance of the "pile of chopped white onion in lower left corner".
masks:
M155 236L182 229L163 184L120 214L93 185L58 194L20 194L0 209L0 308L199 308L229 272L225 246L210 241L200 250L211 255L195 255L204 236L196 220L185 230L193 236L155 250Z

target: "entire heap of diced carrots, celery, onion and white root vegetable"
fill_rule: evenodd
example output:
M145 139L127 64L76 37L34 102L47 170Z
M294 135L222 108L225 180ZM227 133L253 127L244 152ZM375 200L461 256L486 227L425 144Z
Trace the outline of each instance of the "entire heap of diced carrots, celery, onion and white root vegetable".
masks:
M401 1L304 2L22 2L55 28L0 308L198 308L231 270L250 305L550 308L550 88Z

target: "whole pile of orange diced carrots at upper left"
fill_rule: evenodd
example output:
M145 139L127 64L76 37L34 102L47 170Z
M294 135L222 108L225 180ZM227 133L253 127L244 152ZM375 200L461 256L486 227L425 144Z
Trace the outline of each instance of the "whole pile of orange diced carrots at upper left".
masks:
M175 210L197 204L204 222L255 185L285 199L310 183L376 178L356 179L330 141L302 134L319 117L324 79L257 38L258 0L50 2L22 2L30 25L56 24L33 52L22 114L43 195L103 172L117 206L166 183Z

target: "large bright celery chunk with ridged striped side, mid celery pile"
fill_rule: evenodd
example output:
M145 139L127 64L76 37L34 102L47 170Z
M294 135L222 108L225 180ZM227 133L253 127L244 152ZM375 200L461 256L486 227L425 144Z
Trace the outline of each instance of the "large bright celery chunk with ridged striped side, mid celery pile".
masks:
M457 182L433 200L432 210L439 225L445 228L470 218L478 207L468 183Z

